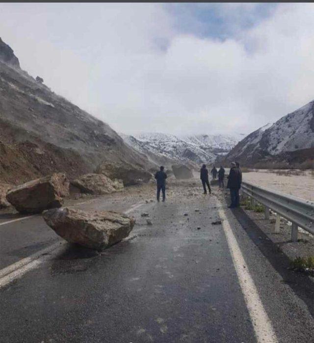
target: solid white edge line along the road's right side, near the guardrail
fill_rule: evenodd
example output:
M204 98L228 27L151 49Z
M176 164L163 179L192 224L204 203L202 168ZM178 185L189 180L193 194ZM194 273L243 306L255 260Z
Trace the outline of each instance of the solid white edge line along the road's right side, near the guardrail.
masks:
M243 258L241 249L230 227L225 212L221 207L222 204L219 200L217 200L217 202L219 204L218 213L222 220L222 227L227 238L228 246L235 266L235 271L240 282L246 307L253 322L253 328L257 341L258 343L276 343L278 342L276 334L272 327L271 321L262 305L259 292L251 277L249 268Z

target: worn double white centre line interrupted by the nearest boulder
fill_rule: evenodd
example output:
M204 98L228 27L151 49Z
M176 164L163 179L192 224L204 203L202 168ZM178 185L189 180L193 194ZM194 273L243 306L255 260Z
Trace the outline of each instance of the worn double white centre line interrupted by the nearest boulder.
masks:
M130 213L131 211L134 211L135 209L139 208L142 205L143 203L134 204L131 206L130 209L128 209L124 213ZM9 284L13 280L23 276L27 271L36 268L47 259L52 258L60 250L57 248L63 247L65 244L66 244L65 241L54 243L50 245L49 247L34 253L33 255L30 255L14 264L11 264L1 269L0 270L0 288ZM47 254L49 253L51 254L47 256Z

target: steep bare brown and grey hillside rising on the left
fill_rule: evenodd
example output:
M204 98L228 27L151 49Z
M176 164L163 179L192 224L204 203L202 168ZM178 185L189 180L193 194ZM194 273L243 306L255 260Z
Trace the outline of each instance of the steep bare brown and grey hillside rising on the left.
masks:
M0 40L1 182L17 184L54 171L74 178L104 160L152 167L107 124L21 70Z

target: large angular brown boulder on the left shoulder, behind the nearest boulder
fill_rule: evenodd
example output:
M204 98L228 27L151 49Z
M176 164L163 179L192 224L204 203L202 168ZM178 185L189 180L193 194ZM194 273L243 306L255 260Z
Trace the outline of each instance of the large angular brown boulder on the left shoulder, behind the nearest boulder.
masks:
M11 188L7 201L21 213L41 213L61 207L69 195L69 182L65 173L54 173L26 184Z

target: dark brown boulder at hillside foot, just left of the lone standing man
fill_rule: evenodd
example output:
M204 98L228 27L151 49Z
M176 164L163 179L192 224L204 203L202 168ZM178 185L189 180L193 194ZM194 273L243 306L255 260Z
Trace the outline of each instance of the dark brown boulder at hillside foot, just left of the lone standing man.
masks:
M96 173L104 174L109 179L120 179L125 186L138 185L150 181L152 174L129 163L103 162L96 168Z

